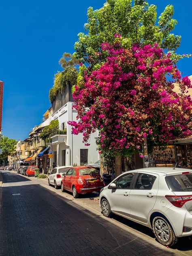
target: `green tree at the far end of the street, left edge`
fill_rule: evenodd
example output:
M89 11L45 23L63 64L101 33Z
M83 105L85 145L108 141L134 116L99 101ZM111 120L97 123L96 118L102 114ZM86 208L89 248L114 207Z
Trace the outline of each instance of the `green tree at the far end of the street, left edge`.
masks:
M0 155L0 159L5 159L8 156L11 156L15 152L15 145L17 141L15 139L9 139L9 137L2 136L0 148L2 149L2 154Z

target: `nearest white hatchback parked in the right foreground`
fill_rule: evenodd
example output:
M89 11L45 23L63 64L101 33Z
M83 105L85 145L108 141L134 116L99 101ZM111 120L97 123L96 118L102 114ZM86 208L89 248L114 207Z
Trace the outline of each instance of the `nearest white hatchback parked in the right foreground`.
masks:
M122 173L100 192L100 207L152 228L163 245L192 235L192 171L145 168Z

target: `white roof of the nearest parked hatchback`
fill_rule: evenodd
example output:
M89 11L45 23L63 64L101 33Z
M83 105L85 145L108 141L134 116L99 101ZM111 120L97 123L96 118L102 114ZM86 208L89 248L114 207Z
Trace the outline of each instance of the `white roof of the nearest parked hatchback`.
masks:
M172 174L190 172L190 171L191 171L190 169L172 168L172 167L150 167L150 168L132 170L132 172L156 173L158 175L164 175L164 174L172 175Z

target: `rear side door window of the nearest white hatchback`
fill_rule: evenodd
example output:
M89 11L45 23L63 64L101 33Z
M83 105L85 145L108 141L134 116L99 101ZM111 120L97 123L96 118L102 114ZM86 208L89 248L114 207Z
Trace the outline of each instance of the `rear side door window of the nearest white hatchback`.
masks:
M156 178L154 175L139 173L134 189L151 190Z

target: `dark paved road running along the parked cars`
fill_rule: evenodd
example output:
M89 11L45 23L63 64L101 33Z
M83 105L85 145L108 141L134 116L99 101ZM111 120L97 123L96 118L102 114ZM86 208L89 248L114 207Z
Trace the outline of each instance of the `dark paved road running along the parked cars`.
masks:
M9 171L1 174L0 256L179 255L36 181Z

